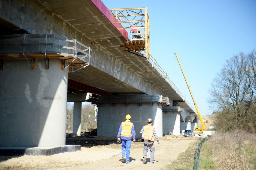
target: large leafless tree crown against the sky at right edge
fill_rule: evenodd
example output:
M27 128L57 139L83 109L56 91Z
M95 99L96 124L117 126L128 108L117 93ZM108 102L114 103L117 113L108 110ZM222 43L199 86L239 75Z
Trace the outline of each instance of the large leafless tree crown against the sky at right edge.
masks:
M229 127L239 128L246 122L250 107L255 105L255 54L254 49L247 55L239 53L226 60L211 83L212 97L208 102L221 114L229 114L229 120L225 120Z

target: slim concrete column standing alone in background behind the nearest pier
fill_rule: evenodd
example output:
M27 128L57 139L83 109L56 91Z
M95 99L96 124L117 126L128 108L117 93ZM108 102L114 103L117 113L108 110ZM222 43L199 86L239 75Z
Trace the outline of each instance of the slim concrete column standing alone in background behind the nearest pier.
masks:
M81 136L82 102L74 102L73 133Z

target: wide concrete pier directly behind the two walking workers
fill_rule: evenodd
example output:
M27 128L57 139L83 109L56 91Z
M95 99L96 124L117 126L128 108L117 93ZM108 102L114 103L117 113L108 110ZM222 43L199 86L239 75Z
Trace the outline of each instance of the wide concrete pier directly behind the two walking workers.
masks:
M131 122L134 124L136 136L140 136L140 131L144 125L147 125L148 118L153 120L153 125L159 137L163 136L163 115L162 103L157 102L151 97L160 95L144 95L148 96L146 100L134 102L141 99L142 95L123 97L123 102L120 96L99 97L98 105L98 136L117 136L121 122L125 121L127 114L131 115ZM111 99L111 100L110 100ZM130 102L129 102L130 101Z

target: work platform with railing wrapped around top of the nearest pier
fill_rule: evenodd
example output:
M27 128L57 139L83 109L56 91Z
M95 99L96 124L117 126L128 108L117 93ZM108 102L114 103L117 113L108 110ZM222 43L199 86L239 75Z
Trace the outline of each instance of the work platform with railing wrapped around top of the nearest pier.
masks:
M64 36L53 34L24 34L0 36L0 70L4 59L26 59L36 69L38 58L44 58L49 68L49 58L60 59L61 70L75 72L90 65L92 49Z

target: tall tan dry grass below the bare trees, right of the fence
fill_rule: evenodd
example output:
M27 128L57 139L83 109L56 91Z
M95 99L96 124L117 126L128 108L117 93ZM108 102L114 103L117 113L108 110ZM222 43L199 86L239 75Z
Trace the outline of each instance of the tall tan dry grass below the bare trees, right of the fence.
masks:
M220 170L255 169L256 135L244 131L219 132L208 141L215 168Z

